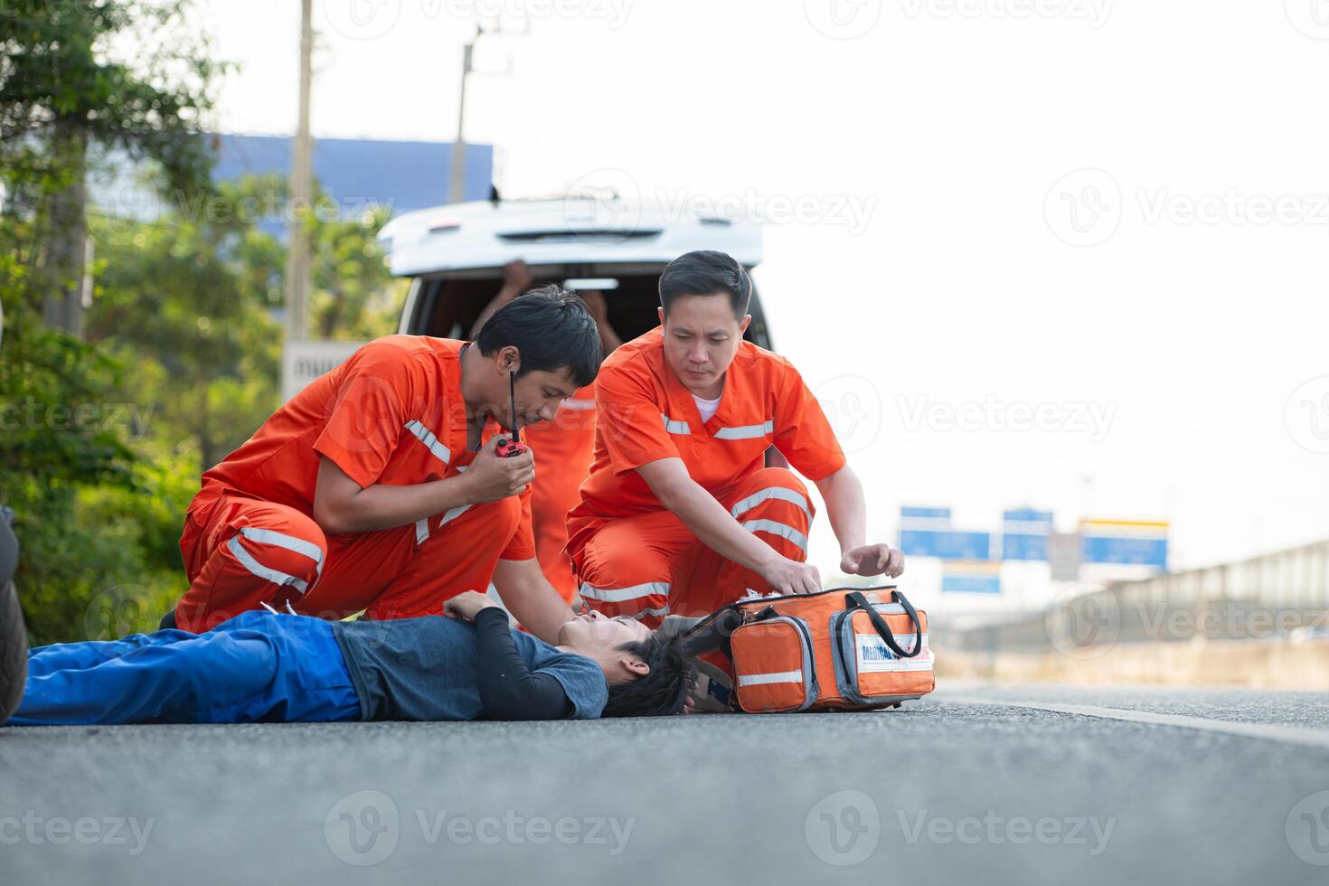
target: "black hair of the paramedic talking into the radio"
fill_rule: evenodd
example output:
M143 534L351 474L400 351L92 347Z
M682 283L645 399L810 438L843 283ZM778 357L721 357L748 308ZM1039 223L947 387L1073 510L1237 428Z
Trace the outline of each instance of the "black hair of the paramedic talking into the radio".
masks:
M521 355L517 376L541 369L566 368L578 388L595 380L599 361L599 328L575 292L549 284L520 295L494 311L480 335L480 353L489 356L512 345Z

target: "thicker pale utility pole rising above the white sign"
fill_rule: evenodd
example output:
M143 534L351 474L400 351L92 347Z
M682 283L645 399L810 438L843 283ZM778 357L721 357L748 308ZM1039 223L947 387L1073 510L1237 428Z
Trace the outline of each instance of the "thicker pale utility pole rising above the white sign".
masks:
M314 139L310 137L310 88L314 80L314 0L300 3L300 122L291 154L291 202L286 221L286 337L308 335L311 287L310 243L304 236L303 215L314 199Z

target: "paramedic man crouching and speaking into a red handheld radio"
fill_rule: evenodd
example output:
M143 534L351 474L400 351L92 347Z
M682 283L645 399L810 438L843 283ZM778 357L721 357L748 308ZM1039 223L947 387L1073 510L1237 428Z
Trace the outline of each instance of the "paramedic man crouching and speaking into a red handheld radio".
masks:
M512 424L553 417L595 377L595 321L558 287L496 312L474 343L392 335L361 347L203 474L181 554L178 627L271 606L389 619L440 614L490 579L536 636L571 618L536 562L529 450ZM169 616L167 616L169 618Z

